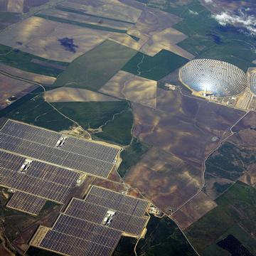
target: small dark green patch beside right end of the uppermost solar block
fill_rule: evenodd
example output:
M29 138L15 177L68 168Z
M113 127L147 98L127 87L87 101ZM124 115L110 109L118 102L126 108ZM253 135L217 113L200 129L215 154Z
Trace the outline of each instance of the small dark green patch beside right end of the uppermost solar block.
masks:
M124 178L129 169L142 159L142 156L149 150L149 146L139 142L137 138L132 138L132 142L121 152L122 163L117 170Z

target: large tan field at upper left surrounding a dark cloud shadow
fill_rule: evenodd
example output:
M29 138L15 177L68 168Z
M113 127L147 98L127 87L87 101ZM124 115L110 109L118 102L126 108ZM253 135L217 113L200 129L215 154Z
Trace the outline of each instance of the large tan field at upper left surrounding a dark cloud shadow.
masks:
M0 43L43 58L71 62L109 36L106 31L31 17L0 33ZM60 45L58 40L66 37L72 38L78 46L75 52Z

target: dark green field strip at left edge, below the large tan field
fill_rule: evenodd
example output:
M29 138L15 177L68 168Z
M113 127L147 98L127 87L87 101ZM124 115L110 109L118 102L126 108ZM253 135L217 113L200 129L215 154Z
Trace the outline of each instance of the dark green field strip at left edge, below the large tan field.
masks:
M32 60L37 59L50 64L57 64L63 66L64 68L68 66L69 63L63 63L55 60L47 60L45 58L32 55L30 53L22 52L21 50L11 48L9 46L0 45L0 62L6 65L10 65L14 68L19 68L32 73L37 73L41 75L50 75L57 77L63 70L53 67L47 67L46 65L40 65L38 63L33 63Z

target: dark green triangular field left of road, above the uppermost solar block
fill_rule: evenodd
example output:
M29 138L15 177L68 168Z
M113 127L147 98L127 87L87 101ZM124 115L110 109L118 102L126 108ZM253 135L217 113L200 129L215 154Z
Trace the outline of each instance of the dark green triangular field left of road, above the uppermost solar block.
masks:
M69 129L73 125L73 122L53 110L44 101L42 94L36 95L36 97L24 102L23 105L14 108L5 117L47 129L53 129L58 132Z

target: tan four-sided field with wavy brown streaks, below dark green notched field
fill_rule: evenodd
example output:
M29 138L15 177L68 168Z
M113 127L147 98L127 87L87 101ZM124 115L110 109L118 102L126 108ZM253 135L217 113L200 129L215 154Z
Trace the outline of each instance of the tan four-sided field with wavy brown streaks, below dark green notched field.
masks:
M154 80L119 71L100 89L100 92L148 107L156 107L156 87Z

